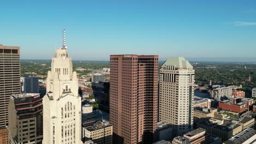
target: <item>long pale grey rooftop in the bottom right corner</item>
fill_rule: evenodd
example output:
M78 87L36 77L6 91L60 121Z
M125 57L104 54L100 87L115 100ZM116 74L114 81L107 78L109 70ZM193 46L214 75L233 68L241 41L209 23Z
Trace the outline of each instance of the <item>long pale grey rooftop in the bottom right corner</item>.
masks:
M231 137L228 141L225 141L224 144L240 144L248 140L250 137L256 134L256 130L252 128L247 128L237 135ZM255 142L255 140L254 140Z

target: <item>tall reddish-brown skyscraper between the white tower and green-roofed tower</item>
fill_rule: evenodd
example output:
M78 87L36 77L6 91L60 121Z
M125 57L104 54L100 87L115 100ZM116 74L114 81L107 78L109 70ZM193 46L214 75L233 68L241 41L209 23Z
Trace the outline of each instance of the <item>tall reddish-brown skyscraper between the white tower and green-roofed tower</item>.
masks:
M109 105L113 139L153 143L158 122L158 56L110 56Z

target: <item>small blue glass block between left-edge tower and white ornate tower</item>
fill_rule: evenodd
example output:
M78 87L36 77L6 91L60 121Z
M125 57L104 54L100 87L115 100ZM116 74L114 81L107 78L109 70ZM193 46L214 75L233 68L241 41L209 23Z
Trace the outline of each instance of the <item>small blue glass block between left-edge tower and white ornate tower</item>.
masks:
M39 93L38 77L28 76L24 77L24 92L26 93Z

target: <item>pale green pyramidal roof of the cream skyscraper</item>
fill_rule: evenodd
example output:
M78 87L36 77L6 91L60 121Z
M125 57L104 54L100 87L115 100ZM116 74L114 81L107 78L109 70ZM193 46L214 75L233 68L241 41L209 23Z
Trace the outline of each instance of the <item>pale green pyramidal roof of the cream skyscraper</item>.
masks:
M184 57L170 57L163 65L175 65L175 67L192 67Z

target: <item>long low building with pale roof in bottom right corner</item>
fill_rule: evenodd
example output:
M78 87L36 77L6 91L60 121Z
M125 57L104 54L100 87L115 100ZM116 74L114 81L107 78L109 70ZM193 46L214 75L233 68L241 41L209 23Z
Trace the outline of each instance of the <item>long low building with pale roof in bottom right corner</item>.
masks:
M223 144L253 144L256 143L256 130L247 128L237 135L231 137L229 140L223 142Z

